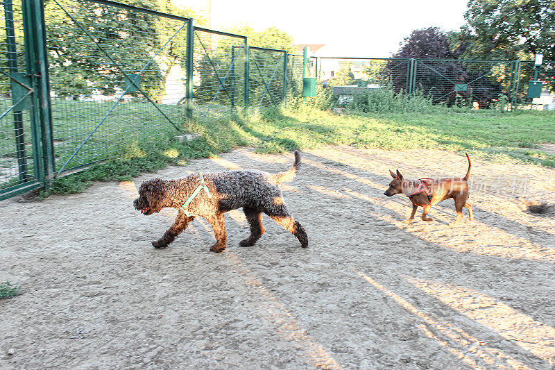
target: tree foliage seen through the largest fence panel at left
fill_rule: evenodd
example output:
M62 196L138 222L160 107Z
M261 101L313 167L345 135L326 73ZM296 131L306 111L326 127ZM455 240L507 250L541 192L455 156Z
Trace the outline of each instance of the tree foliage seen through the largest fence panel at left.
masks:
M124 2L184 17L192 15L186 9L173 6L170 0ZM62 6L65 7L66 3L62 3ZM80 26L65 11L69 12ZM139 72L180 26L179 22L173 19L86 1L78 7L60 8L58 3L45 0L44 14L52 89L56 96L73 99L89 96L94 90L114 94L118 87L124 88L126 81L117 65L126 74ZM85 33L81 27L87 32ZM157 54L141 76L142 90L154 99L157 99L156 96L164 89L169 69L173 65L184 64L182 60L185 60L186 55L186 29L183 28L181 35L174 37ZM117 65L100 48L104 49Z

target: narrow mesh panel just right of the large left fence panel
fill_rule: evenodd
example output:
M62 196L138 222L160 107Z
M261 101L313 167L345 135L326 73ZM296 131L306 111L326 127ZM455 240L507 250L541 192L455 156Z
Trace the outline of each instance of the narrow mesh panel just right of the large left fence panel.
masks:
M245 37L195 27L193 99L196 117L244 108Z

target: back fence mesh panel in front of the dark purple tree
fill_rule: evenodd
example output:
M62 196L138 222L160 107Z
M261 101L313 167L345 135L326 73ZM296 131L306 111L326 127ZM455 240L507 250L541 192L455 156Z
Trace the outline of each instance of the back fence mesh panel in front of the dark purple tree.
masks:
M488 60L416 60L413 88L434 103L490 108L507 99L512 67Z

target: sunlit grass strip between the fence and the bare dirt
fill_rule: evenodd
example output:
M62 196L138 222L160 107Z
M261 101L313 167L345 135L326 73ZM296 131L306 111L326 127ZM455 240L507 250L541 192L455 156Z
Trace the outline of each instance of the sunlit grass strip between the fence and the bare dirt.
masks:
M321 93L323 94L323 93ZM322 95L323 96L323 95ZM327 96L318 98L322 106ZM404 98L403 98L404 99ZM322 101L324 103L322 103ZM318 104L320 104L318 103ZM398 102L399 103L399 102ZM82 192L93 181L130 180L172 164L205 158L238 146L259 153L309 149L327 144L390 150L439 149L468 151L476 158L555 167L555 155L538 144L555 142L555 112L468 110L425 106L425 99L401 101L401 112L353 112L334 115L314 102L291 103L289 109L266 109L225 118L197 117L196 140L180 143L175 130L133 137L117 157L87 171L58 178L48 193ZM412 108L411 108L412 107ZM418 108L420 107L420 108Z

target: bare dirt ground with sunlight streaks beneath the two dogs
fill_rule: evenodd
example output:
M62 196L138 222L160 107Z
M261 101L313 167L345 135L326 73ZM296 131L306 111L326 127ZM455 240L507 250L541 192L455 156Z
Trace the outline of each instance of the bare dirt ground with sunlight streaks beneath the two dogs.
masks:
M475 220L452 201L434 221L402 221L404 196L383 195L388 169L463 176L441 151L333 146L302 153L284 184L309 248L268 217L255 246L240 210L228 249L193 224L163 250L174 210L145 217L142 180L225 168L283 171L293 156L240 149L96 183L83 194L0 203L2 369L553 369L555 171L473 161ZM545 202L545 214L525 212ZM528 202L528 203L527 203ZM420 210L417 215L420 214Z

